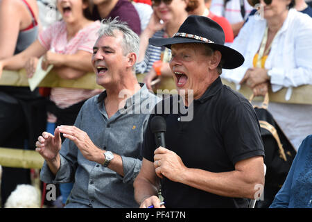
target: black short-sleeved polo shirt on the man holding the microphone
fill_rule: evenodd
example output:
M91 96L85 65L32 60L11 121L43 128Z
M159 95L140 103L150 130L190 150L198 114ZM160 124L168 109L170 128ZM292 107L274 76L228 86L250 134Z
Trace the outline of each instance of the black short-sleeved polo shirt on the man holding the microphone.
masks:
M156 114L166 119L166 148L177 153L186 167L226 172L233 171L240 160L264 156L259 121L252 105L241 94L223 85L220 77L200 99L193 101L191 121L181 121L187 114L177 109L180 105L175 101L175 96L170 96L159 102L150 119ZM156 147L150 119L143 155L153 162ZM247 199L218 196L167 178L162 179L162 196L166 207L248 207Z

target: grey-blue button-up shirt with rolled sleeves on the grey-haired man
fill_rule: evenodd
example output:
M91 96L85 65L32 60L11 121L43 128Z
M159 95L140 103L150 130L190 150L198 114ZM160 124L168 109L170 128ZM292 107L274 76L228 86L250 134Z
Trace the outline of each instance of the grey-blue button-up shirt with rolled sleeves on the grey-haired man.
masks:
M104 105L106 96L104 91L88 99L75 126L85 131L99 148L121 155L124 176L85 159L76 144L65 139L56 176L46 162L40 176L46 183L74 181L66 207L138 207L133 181L141 168L141 148L149 112L160 99L144 85L127 99L123 109L108 119Z

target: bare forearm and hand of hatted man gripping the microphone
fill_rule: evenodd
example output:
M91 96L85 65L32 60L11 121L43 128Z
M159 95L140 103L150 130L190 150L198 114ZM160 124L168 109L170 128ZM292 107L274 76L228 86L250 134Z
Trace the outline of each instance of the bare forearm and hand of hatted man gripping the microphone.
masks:
M158 176L220 196L254 199L256 185L264 185L262 156L236 162L234 171L222 173L187 168L176 153L163 147L155 150L154 160Z

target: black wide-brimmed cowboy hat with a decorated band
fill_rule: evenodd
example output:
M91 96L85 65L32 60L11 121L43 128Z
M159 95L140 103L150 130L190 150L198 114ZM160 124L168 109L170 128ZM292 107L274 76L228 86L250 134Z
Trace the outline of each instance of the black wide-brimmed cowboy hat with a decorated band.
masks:
M235 69L243 65L245 59L241 53L224 45L223 28L205 16L189 15L173 37L149 40L154 46L166 46L168 49L171 49L171 44L194 42L209 44L211 49L220 51L224 69Z

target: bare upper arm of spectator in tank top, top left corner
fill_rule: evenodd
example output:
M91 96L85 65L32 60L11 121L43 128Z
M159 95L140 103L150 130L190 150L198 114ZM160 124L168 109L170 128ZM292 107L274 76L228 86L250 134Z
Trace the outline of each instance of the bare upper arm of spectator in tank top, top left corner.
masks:
M0 60L13 56L21 24L19 3L12 0L0 1Z

